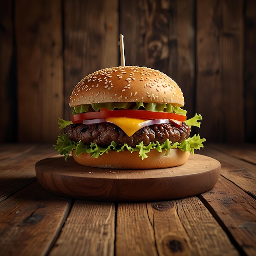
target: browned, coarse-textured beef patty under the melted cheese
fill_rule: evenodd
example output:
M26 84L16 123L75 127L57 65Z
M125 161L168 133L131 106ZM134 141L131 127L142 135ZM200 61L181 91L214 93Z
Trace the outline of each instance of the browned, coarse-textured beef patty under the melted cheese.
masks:
M155 124L139 129L132 136L126 133L112 123L101 124L71 124L68 126L67 136L72 141L82 141L85 145L91 142L98 146L106 147L115 141L117 145L122 146L125 143L128 146L135 147L141 141L147 146L151 141L159 141L160 144L169 139L172 143L182 142L190 135L190 127L183 122L180 128L176 128L173 124Z

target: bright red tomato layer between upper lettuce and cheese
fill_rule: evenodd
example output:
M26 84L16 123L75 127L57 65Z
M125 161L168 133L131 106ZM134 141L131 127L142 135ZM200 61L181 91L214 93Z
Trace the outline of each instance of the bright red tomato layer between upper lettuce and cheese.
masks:
M100 111L85 112L72 115L73 124L82 123L83 119L98 119L108 117L135 117L141 119L174 119L178 121L186 121L186 116L168 112L155 112L147 110L108 110L101 108Z

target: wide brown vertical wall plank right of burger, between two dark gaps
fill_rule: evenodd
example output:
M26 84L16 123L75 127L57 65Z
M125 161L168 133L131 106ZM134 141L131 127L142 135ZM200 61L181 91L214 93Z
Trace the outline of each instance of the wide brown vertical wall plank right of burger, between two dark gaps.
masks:
M243 1L200 0L197 13L199 132L208 141L244 141Z

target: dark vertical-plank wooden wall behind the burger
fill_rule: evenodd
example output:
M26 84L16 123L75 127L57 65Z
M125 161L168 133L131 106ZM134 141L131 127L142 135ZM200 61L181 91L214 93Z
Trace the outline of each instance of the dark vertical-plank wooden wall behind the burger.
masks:
M255 0L0 0L0 142L50 142L78 81L153 67L182 88L207 141L256 142Z

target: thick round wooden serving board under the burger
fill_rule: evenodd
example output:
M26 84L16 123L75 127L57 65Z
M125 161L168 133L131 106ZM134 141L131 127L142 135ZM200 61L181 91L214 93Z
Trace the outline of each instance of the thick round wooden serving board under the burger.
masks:
M132 159L131 159L132 160ZM115 170L77 164L72 157L36 163L40 184L52 193L100 201L158 201L184 198L211 189L220 175L220 162L191 155L182 166Z

